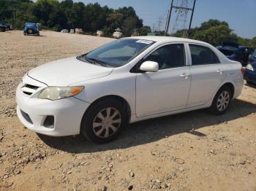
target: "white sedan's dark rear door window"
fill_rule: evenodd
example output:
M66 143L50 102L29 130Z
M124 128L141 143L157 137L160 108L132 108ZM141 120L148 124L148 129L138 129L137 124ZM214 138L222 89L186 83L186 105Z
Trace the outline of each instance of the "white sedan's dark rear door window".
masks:
M205 65L205 64L214 64L220 63L217 55L208 47L189 44L192 65Z

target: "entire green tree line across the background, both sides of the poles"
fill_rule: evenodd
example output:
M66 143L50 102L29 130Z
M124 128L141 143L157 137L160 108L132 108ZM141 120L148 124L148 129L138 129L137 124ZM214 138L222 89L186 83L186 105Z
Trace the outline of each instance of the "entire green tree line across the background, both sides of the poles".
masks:
M132 7L111 9L98 3L83 4L72 0L0 0L0 21L12 23L15 28L22 29L24 23L41 23L42 28L61 31L67 28L82 28L86 34L96 34L102 30L104 36L112 36L116 28L121 28L124 36L131 36L138 28L140 35L151 32L149 26L143 26L143 20L138 17ZM154 31L157 35L164 35L164 31ZM187 31L176 31L171 36L183 37ZM208 20L199 27L192 28L190 39L219 45L224 41L237 42L250 47L256 47L256 36L245 39L234 34L227 22Z

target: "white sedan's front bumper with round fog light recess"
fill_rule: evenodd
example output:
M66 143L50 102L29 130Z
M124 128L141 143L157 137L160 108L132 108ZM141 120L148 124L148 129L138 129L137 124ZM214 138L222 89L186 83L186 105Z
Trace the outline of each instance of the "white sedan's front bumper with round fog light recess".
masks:
M64 98L57 101L32 98L18 85L16 90L17 114L20 122L33 130L48 136L70 136L80 133L80 122L89 103L77 98ZM29 116L29 117L28 117ZM53 125L45 127L45 119L54 117Z

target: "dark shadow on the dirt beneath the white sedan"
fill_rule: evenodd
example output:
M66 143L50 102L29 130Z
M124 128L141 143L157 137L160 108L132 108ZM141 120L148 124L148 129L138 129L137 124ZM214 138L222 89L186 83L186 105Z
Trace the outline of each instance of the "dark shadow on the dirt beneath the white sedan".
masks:
M50 137L38 134L38 136L49 147L65 152L100 152L147 144L179 133L191 133L195 136L206 136L198 130L209 125L213 125L212 128L214 128L214 125L236 120L240 117L246 117L255 112L256 104L235 99L228 111L221 116L215 116L209 113L206 109L201 109L183 114L174 114L167 117L158 117L153 120L135 122L129 125L123 133L118 136L118 139L108 144L92 144L80 135Z

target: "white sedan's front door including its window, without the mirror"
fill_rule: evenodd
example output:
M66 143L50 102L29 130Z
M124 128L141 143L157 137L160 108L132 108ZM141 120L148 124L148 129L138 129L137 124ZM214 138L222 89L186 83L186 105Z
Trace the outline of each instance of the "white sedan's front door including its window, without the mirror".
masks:
M184 44L159 47L144 61L159 63L159 71L137 74L137 117L184 109L191 82Z

